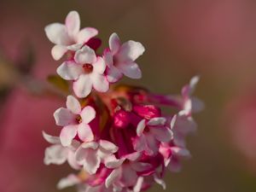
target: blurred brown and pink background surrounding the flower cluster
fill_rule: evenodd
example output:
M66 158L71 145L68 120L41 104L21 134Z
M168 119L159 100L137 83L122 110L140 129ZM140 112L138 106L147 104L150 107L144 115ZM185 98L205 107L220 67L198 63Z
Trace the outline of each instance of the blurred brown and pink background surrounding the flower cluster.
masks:
M46 78L60 64L50 56L44 26L78 10L108 45L117 32L146 47L143 79L131 84L177 93L195 74L206 104L195 114L191 160L166 177L167 191L256 191L256 2L252 0L0 1L0 191L55 192L68 166L44 166L41 131L55 133L52 113L64 99ZM74 189L63 192L75 191ZM162 191L155 186L150 192Z

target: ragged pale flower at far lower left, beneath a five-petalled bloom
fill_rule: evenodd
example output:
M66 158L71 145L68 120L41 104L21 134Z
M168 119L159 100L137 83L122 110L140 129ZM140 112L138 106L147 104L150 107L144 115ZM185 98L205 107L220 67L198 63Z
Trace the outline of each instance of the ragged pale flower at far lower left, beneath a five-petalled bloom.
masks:
M77 148L79 148L79 142L73 140L72 144L68 147L63 147L61 145L61 140L59 137L53 137L48 134L46 134L43 131L44 139L53 144L49 148L45 149L44 154L44 164L50 165L61 165L65 163L66 161L70 166L73 167L73 169L79 169L80 166L75 160L75 151Z

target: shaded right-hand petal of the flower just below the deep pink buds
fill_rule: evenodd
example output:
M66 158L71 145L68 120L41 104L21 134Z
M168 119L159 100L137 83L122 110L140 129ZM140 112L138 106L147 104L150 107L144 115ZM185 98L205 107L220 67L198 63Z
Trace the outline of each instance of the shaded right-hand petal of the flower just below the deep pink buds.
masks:
M167 127L150 127L150 132L158 141L164 143L170 142L173 137L172 130Z

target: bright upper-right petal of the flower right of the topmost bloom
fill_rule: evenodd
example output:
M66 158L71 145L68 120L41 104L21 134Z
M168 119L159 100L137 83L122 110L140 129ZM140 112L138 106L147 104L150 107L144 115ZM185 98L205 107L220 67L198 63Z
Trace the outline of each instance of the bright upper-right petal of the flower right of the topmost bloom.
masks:
M137 57L143 55L145 48L143 44L135 41L128 41L123 44L119 50L119 60L121 61L135 61Z

